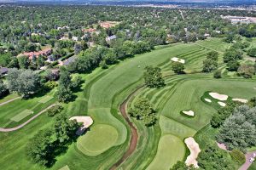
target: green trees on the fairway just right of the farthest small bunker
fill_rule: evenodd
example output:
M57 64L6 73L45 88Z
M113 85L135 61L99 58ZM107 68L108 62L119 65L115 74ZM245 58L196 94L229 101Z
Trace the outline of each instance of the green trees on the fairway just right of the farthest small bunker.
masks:
M218 53L211 51L207 53L207 59L203 61L203 72L212 72L218 68Z

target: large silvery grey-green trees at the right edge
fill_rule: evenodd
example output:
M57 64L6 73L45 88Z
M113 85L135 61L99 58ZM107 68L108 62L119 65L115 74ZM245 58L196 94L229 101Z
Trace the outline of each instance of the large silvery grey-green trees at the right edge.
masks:
M218 142L228 149L247 150L256 144L256 108L248 105L237 107L220 127Z

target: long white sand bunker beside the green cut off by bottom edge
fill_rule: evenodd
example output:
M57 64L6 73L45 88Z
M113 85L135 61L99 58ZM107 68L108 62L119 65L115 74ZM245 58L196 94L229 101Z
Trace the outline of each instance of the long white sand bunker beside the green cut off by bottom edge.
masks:
M187 144L187 147L190 150L190 155L187 157L185 163L187 164L187 166L194 165L194 167L198 167L196 158L201 152L199 144L197 144L195 142L195 139L192 137L185 139L185 144Z

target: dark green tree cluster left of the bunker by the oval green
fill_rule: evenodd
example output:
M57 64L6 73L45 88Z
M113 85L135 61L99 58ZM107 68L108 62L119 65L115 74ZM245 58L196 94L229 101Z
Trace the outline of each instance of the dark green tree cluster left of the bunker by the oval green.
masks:
M38 131L26 146L26 155L38 165L51 167L55 156L67 150L68 144L77 139L75 134L79 124L69 121L66 114L55 117L53 127Z

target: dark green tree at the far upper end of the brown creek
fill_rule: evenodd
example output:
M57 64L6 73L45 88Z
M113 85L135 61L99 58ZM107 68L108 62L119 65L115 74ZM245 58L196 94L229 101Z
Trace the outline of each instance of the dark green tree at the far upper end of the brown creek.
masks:
M147 66L145 70L143 77L148 88L161 88L166 85L159 67Z

